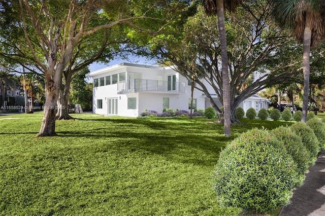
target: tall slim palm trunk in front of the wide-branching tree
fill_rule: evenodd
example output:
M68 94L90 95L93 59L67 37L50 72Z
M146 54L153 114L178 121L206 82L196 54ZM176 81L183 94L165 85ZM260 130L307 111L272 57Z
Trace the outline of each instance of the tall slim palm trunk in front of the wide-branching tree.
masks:
M216 1L218 30L221 43L221 63L222 63L222 100L223 100L223 118L224 118L224 135L230 136L231 110L230 110L230 87L228 73L228 54L224 26L224 8L223 1Z

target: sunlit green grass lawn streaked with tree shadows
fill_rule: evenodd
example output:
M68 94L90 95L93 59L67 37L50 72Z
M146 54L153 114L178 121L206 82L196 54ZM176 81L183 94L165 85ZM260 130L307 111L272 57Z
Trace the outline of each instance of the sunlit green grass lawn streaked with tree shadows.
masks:
M36 137L42 113L0 117L0 215L237 215L218 205L212 172L240 133L291 122L73 115Z

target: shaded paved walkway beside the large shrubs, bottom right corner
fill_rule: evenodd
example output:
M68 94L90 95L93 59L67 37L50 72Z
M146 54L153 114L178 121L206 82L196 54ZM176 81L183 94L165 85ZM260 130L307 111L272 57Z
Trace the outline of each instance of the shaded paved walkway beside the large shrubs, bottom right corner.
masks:
M324 137L325 138L325 137ZM291 203L284 206L279 216L325 215L325 151L308 169L304 184L294 190Z

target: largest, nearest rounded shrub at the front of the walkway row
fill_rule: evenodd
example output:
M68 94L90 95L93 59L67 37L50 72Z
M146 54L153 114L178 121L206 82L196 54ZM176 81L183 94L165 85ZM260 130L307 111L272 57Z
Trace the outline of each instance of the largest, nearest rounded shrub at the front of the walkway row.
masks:
M265 213L289 202L296 169L275 136L253 129L220 153L214 189L224 206L242 208L245 213Z

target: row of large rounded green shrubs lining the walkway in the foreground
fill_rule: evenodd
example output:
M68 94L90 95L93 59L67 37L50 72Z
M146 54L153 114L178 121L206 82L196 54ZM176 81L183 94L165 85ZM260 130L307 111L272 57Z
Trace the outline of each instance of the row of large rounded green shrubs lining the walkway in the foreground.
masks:
M324 136L325 123L318 118L241 134L221 151L215 166L218 200L224 206L242 208L244 214L286 205L325 149Z

